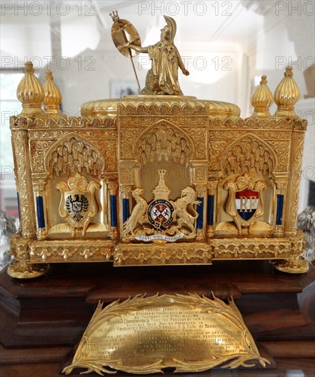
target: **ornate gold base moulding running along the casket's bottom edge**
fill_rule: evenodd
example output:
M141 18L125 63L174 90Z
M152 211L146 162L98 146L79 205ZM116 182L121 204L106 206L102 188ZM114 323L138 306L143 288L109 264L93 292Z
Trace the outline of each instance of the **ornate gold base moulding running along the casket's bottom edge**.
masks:
M114 265L211 264L212 259L292 258L303 252L304 236L290 239L210 239L207 243L176 245L118 244L114 241L31 241L14 236L18 258L27 254L33 263L114 261ZM29 251L30 246L30 251Z

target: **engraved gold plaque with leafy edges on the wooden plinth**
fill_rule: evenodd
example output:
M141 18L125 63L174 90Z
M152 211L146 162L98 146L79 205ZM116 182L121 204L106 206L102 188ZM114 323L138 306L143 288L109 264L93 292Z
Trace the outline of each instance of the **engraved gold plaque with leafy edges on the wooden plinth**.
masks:
M74 368L134 374L201 372L213 367L266 366L233 300L189 295L136 296L99 302L79 343ZM110 369L108 369L110 368Z

